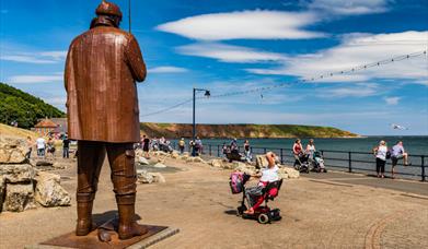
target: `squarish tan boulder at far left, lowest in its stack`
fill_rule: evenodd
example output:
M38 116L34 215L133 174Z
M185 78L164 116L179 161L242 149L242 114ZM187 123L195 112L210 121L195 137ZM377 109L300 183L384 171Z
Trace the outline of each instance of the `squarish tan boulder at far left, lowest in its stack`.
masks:
M36 208L33 183L9 183L5 188L3 211L22 212Z

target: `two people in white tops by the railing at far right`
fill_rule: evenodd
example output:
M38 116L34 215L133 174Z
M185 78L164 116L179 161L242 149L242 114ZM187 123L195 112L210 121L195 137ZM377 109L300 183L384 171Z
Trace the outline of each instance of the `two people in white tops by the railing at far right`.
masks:
M395 166L400 159L403 159L404 166L408 166L408 154L405 152L403 141L397 141L391 150L387 149L385 141L380 141L379 145L373 149L375 156L375 170L379 178L385 177L386 159L391 159L391 177L395 178Z

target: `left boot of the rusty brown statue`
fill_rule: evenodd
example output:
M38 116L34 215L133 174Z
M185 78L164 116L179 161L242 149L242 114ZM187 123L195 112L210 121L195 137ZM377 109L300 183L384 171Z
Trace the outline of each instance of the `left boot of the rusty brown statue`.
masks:
M77 236L85 236L91 233L92 224L93 194L88 197L78 195L78 222L76 226Z

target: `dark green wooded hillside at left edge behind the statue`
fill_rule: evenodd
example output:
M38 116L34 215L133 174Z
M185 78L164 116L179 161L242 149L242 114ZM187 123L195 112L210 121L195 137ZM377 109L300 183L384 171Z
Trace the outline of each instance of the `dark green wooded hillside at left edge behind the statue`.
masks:
M41 98L0 82L0 122L16 121L20 128L31 128L37 119L60 118L65 114Z

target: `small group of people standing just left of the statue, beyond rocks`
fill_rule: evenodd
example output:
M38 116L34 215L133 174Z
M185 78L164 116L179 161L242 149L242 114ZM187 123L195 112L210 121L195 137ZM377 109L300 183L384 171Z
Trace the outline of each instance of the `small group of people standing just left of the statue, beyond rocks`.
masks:
M62 157L69 158L70 157L70 140L67 137L67 133L62 135ZM38 137L35 141L31 137L26 138L26 146L27 152L25 153L25 157L27 159L31 158L33 147L36 149L37 157L38 158L46 158L47 155L50 155L50 157L55 157L56 152L56 139L54 137L48 137L47 141L44 137Z

